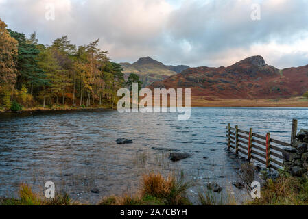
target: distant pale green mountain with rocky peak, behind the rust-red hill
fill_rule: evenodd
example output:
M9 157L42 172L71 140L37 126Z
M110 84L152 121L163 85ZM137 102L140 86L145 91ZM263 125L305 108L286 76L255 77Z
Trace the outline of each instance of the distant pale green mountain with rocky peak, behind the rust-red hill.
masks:
M130 64L128 62L120 63L123 68L124 77L131 73L139 75L143 82L143 87L149 86L154 81L162 81L171 75L176 75L189 68L189 66L165 66L163 63L153 60L151 57L141 57L137 62Z

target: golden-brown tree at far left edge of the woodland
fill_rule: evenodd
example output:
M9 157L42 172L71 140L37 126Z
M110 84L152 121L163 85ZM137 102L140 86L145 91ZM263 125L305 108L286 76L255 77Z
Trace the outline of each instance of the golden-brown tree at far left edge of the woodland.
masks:
M16 59L18 42L12 38L0 19L0 92L12 89L16 83Z

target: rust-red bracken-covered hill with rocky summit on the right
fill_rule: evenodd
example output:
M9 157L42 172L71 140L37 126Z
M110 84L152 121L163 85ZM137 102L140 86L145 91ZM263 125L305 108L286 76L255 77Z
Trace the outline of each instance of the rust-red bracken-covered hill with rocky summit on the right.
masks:
M187 68L149 87L191 88L191 96L208 100L301 96L308 90L308 65L279 70L257 55L228 67Z

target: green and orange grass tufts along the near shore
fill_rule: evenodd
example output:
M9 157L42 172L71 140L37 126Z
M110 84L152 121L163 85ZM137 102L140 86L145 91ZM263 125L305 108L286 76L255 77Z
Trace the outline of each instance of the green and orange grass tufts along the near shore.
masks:
M134 194L106 196L97 205L191 205L187 189L191 183L184 175L150 172L143 175L141 187ZM55 198L43 198L22 183L18 198L0 198L0 205L86 205L71 200L68 194L56 194ZM237 205L234 195L215 194L211 190L198 193L199 205ZM261 198L246 201L243 205L308 205L308 177L292 177L279 172L276 179L266 179L261 187Z

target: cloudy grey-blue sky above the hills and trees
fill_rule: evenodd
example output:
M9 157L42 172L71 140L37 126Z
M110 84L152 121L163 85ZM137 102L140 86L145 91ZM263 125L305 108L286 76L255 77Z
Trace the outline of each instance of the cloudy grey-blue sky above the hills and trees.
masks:
M306 0L0 0L0 18L43 44L99 38L115 62L228 66L262 55L278 68L308 64Z

